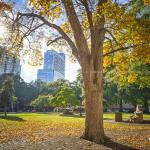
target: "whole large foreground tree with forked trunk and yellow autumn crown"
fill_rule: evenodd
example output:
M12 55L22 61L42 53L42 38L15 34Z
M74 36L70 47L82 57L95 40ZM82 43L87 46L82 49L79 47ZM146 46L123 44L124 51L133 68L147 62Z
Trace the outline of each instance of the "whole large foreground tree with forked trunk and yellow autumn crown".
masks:
M16 27L19 31L24 28L23 37L26 38L35 30L47 26L48 30L56 31L50 34L55 38L50 38L48 45L65 40L70 46L81 65L85 87L86 120L83 137L103 143L103 57L127 49L139 52L141 49L137 47L148 47L148 34L144 38L143 34L140 35L142 29L128 14L128 8L116 1L31 0L31 6L32 13L18 13L14 29ZM134 40L133 37L140 40Z

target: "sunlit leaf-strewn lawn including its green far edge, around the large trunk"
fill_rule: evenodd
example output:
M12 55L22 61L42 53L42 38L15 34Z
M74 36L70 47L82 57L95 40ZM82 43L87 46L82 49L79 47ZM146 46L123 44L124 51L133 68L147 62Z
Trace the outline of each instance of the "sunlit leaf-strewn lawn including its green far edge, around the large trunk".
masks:
M129 114L124 114L124 118L128 118L128 116ZM146 119L150 118L149 115L144 117ZM104 118L106 119L104 123L105 133L112 139L113 144L126 145L126 147L124 146L126 149L130 149L129 147L142 150L150 149L150 124L115 123L110 120L114 118L114 114L104 114ZM17 142L18 144L22 143L22 145L34 147L35 143L39 144L41 142L43 144L52 138L55 139L54 141L58 141L59 138L60 141L65 138L66 141L73 138L69 143L71 145L72 142L72 147L73 145L76 147L75 143L82 141L77 137L82 134L83 130L84 118L80 117L66 117L53 113L11 114L7 119L0 117L0 149L8 149L7 146L11 147L11 144L13 147L13 144L17 145ZM57 143L59 146L59 142Z

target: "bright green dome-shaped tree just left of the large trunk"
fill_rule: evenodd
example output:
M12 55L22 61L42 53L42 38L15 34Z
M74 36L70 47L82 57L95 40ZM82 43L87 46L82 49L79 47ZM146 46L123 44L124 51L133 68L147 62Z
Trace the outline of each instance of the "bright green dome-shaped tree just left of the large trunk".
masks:
M62 88L52 99L51 104L57 107L67 107L79 105L75 92L70 87Z

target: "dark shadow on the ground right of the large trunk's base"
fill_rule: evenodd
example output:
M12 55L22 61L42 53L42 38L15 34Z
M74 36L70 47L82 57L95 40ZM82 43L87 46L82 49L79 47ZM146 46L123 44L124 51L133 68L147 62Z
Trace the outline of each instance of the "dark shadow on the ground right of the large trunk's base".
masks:
M107 138L103 145L113 150L137 150L136 148L130 147L128 145L117 143L110 138Z

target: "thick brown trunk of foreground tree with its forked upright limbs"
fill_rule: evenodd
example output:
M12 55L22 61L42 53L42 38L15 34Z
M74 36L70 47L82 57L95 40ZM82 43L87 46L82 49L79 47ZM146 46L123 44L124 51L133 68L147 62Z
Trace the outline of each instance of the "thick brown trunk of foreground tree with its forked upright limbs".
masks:
M84 138L96 143L104 142L103 129L103 42L105 39L105 17L96 17L92 20L92 14L88 8L88 2L82 1L87 10L90 24L91 48L85 37L78 14L75 11L73 0L62 1L66 10L68 21L73 31L76 49L72 48L74 56L81 67L85 86L86 120ZM99 2L100 6L102 2ZM97 9L97 13L100 10ZM70 42L69 42L70 43ZM72 47L72 43L70 43Z

